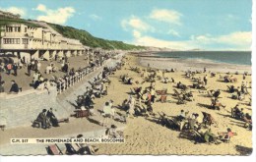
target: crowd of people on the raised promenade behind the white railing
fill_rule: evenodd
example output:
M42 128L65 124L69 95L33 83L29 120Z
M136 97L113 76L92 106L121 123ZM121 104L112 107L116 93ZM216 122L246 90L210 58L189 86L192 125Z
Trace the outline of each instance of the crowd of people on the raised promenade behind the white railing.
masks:
M59 90L64 90L69 87L73 82L79 80L82 76L87 75L89 72L92 72L99 67L100 64L106 59L109 58L107 55L101 55L101 61L99 62L99 56L95 58L91 58L89 61L89 66L85 68L79 68L75 70L71 67L69 63L68 57L57 56L55 55L56 63L53 61L48 61L49 64L45 67L45 69L41 69L41 59L26 59L26 57L17 59L4 59L0 60L0 92L8 92L5 90L5 81L3 74L6 74L7 77L13 74L14 77L19 78L22 77L21 73L18 71L26 68L26 75L28 77L32 76L32 81L29 84L34 89L47 89L49 85L55 85ZM59 61L58 61L59 59ZM16 60L16 61L15 61ZM56 64L60 64L60 69ZM58 73L59 71L63 72L63 77L56 77L54 73ZM49 78L49 74L52 74L52 78ZM45 75L45 76L44 76ZM57 75L59 76L59 75ZM8 77L9 78L9 77ZM27 79L26 79L27 80ZM16 82L18 83L18 82ZM26 85L27 86L27 85ZM13 88L12 88L13 91ZM19 92L16 90L16 92Z

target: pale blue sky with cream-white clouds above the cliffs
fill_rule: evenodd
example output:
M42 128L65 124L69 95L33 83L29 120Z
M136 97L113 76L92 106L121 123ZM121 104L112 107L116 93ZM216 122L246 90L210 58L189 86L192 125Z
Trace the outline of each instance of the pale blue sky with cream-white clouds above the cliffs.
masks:
M136 45L251 50L251 0L1 0L0 10Z

